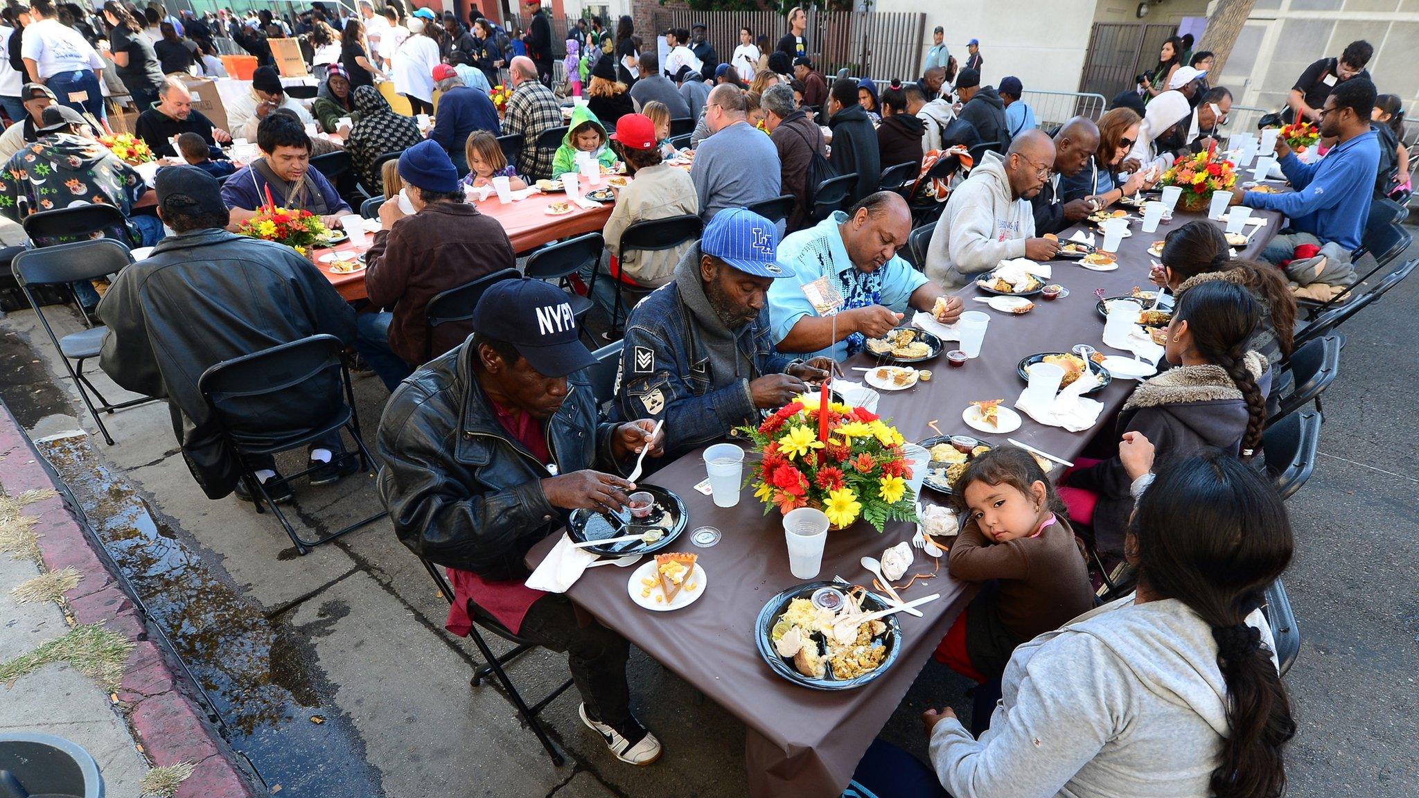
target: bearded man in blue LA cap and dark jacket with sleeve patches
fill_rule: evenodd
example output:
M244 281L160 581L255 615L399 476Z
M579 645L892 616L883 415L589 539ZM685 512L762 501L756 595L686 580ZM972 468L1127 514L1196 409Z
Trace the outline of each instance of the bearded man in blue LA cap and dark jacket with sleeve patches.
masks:
M666 453L678 457L758 423L822 381L833 362L780 355L769 338L768 291L792 277L778 264L778 230L742 207L715 214L675 267L626 319L622 389L613 417L666 420Z

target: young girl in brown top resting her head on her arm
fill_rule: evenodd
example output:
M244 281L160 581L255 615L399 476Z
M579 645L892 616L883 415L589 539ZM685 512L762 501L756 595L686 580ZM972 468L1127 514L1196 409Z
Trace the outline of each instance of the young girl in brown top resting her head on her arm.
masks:
M951 494L965 518L951 544L951 575L985 582L937 646L937 660L990 682L1015 646L1094 606L1064 504L1034 457L999 446L966 466Z

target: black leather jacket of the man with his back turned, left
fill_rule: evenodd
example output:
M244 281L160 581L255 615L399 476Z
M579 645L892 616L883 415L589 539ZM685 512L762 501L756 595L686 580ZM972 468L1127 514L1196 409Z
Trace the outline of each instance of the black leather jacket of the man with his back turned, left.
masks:
M108 325L99 368L138 393L167 399L183 459L207 498L237 484L197 378L209 366L318 334L355 342L355 311L295 250L224 230L169 236L119 273L98 315ZM278 432L326 420L333 390L285 392L251 420Z

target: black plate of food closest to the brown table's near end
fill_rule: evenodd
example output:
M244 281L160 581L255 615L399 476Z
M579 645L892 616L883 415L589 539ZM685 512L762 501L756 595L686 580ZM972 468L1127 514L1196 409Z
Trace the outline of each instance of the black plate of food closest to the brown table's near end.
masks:
M851 690L877 679L901 653L897 615L858 622L890 609L860 585L807 582L771 598L753 625L759 656L773 673L815 690Z

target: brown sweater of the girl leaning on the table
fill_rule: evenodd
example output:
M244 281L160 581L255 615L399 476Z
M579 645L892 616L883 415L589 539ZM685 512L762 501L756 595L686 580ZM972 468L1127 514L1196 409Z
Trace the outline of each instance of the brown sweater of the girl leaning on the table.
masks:
M1094 608L1074 530L1056 517L1037 538L990 542L972 521L951 544L951 575L968 582L996 579L996 613L1022 640L1059 629Z

